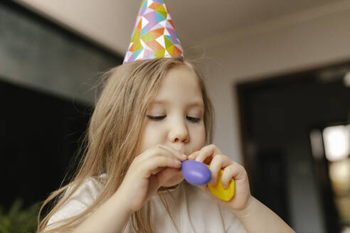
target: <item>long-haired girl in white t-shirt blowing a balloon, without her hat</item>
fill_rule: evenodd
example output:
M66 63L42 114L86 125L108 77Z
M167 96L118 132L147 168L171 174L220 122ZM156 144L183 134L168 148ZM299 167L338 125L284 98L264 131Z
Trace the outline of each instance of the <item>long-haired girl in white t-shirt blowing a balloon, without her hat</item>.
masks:
M141 60L107 75L80 169L43 203L56 200L37 232L293 232L250 195L243 166L210 144L213 109L190 63ZM235 197L183 181L186 159L210 164L212 185L223 168Z

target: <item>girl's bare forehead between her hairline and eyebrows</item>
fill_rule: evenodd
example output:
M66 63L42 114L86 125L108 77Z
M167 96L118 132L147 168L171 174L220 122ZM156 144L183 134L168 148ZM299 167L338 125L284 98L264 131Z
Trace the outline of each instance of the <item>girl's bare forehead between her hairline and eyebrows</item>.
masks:
M199 80L195 72L179 65L171 68L164 77L154 99L154 104L186 104L203 107L203 97Z

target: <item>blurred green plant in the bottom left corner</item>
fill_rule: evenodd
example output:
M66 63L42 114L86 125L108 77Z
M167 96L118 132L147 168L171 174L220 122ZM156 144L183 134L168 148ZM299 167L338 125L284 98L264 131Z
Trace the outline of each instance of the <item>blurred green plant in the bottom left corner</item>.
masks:
M0 233L29 233L36 230L39 205L22 209L23 201L17 199L8 212L0 205Z

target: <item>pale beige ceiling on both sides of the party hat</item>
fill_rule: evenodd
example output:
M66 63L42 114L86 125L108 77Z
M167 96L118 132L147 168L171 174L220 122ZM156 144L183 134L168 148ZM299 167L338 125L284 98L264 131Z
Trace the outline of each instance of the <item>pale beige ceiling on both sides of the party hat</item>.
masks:
M16 0L70 30L124 55L141 0ZM183 47L334 0L166 0ZM215 41L215 40L213 40Z

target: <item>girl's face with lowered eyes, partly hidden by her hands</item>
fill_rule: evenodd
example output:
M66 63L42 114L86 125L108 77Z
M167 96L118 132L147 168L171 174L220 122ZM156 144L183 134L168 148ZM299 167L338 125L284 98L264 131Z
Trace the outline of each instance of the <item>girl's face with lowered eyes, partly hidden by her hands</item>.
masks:
M166 73L156 97L148 106L137 155L157 144L182 151L186 156L206 142L204 104L196 74L185 65ZM184 180L182 172L164 186Z

